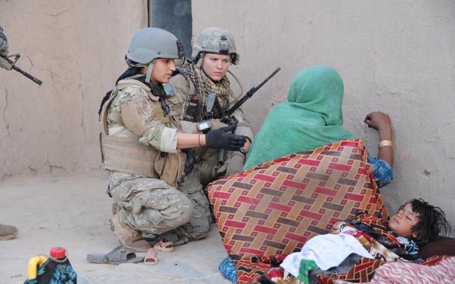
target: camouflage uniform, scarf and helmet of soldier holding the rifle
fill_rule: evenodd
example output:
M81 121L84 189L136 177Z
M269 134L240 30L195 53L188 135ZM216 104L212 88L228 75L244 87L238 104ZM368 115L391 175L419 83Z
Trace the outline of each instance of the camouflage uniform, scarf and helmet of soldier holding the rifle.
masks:
M198 34L191 53L191 59L194 64L183 66L180 69L180 74L173 76L169 81L175 92L175 95L169 98L170 110L174 116L180 118L183 132L196 132L196 122L205 119L210 120L212 130L226 126L219 119L212 118L212 115L206 113L205 106L210 92L215 92L219 106L223 108L233 105L236 99L233 96L227 76L224 76L219 81L213 81L201 69L203 55L206 52L228 54L232 64L236 65L239 62L235 40L229 31L219 27L208 27ZM194 94L198 97L198 113L195 116L187 117L188 101L191 101L190 95ZM252 141L253 133L241 109L237 109L233 115L238 120L234 134L244 135ZM234 151L228 153L225 163L218 168L218 152L219 150L208 147L196 148L196 160L198 162L195 165L194 174L198 175L197 178L202 184L206 184L222 175L234 174L243 167L244 154Z

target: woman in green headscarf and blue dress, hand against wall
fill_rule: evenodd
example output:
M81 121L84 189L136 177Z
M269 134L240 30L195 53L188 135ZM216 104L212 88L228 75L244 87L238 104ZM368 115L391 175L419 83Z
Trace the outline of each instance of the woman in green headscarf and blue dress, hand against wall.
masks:
M243 170L290 153L354 139L354 134L343 128L342 101L343 81L335 70L328 66L300 70L290 83L287 102L277 104L265 118ZM390 119L387 114L374 111L366 115L364 122L379 131L377 158L368 157L368 162L377 186L382 187L393 178ZM226 278L236 281L235 265L229 257L219 269Z

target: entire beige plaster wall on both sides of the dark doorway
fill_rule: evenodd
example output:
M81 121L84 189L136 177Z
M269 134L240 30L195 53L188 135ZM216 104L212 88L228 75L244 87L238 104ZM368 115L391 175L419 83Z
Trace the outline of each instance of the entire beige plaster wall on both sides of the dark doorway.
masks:
M257 131L285 101L301 68L331 65L344 80L345 126L378 136L366 113L390 114L395 179L382 190L395 210L411 197L439 205L455 224L455 2L192 0L193 38L208 26L230 30L245 91L282 70L246 102ZM97 109L125 69L131 35L147 25L147 1L0 0L0 24L18 66L43 81L0 70L0 180L30 174L99 172Z

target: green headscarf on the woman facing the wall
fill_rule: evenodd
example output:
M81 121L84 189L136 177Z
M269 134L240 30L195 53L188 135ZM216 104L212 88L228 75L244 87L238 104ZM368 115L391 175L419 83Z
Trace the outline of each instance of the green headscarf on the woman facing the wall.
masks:
M273 107L249 148L247 169L290 153L355 138L343 128L343 81L328 66L300 70L287 101Z

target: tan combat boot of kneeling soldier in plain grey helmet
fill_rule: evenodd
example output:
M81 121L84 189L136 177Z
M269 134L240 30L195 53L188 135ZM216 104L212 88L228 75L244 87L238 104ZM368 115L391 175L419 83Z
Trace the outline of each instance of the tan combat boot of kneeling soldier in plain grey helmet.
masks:
M148 241L142 238L142 233L133 229L121 220L121 211L117 211L109 220L110 229L115 233L120 243L135 252L145 252L150 248Z

